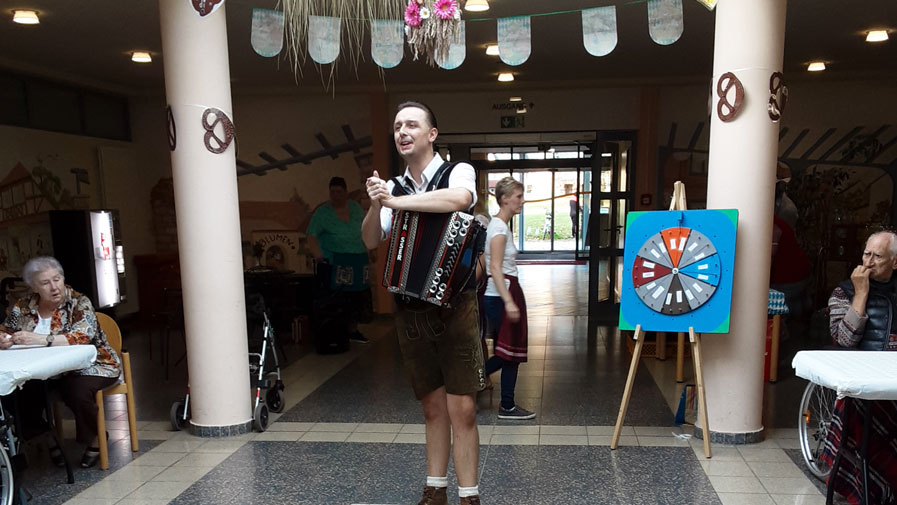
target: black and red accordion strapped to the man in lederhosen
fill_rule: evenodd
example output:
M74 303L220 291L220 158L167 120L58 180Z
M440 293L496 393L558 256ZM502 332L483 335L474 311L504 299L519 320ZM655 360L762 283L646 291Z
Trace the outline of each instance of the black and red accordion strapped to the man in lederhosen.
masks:
M451 307L476 272L486 229L464 212L395 211L383 286L390 293Z

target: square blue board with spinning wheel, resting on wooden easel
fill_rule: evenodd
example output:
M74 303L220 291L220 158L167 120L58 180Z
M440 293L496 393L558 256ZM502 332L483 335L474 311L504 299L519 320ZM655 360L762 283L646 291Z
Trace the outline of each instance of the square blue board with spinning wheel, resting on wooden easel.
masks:
M620 329L728 333L737 210L626 216Z

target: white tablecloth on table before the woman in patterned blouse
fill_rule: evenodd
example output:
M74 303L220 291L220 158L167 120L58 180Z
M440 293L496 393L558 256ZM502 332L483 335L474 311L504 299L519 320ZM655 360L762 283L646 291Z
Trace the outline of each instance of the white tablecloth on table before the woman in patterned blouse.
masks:
M0 396L8 395L31 379L49 379L87 368L97 359L92 345L13 347L0 351Z

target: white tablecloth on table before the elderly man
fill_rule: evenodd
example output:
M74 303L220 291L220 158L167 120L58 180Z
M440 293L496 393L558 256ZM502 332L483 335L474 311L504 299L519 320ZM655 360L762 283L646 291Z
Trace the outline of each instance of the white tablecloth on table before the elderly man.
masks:
M897 351L800 351L791 366L838 398L897 400Z

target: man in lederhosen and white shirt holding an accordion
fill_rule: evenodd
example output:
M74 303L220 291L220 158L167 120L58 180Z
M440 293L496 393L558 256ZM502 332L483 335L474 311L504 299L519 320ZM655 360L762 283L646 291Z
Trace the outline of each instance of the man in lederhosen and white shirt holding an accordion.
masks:
M474 168L467 163L446 164L433 152L437 135L436 117L429 107L417 102L399 105L393 137L407 167L401 178L387 182L374 171L367 180L371 207L362 224L362 235L369 249L389 235L394 210L470 212L476 203ZM441 172L447 177L439 177ZM401 188L396 187L397 181ZM427 483L418 505L448 503L452 445L460 503L479 505L475 394L484 387L486 378L476 291L462 290L453 298L451 308L403 296L397 296L396 302L399 347L426 423Z

